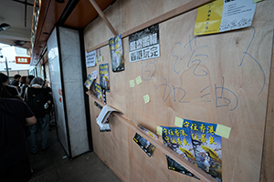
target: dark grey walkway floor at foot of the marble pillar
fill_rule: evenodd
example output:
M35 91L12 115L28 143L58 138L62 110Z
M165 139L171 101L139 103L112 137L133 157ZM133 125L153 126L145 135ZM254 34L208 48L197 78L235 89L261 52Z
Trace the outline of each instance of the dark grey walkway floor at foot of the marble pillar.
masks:
M69 160L58 142L55 126L50 126L48 149L29 159L33 168L30 182L121 181L94 152Z

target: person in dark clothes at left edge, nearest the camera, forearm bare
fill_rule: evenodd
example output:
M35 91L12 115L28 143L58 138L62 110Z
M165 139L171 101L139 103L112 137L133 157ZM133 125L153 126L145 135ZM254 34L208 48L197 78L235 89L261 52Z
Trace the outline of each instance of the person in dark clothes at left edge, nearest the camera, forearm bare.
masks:
M12 97L0 79L0 181L26 182L32 176L24 126L37 119L26 104Z

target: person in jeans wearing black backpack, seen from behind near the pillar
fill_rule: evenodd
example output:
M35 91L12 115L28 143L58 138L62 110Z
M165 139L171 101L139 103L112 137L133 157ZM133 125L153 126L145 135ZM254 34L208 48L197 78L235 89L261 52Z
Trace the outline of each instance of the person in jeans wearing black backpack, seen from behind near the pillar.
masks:
M37 117L37 124L29 126L30 136L28 137L30 152L36 154L37 133L40 127L41 130L41 148L46 150L48 147L48 105L51 104L50 96L43 88L44 80L40 77L35 77L31 81L31 87L27 87L25 91L24 101Z

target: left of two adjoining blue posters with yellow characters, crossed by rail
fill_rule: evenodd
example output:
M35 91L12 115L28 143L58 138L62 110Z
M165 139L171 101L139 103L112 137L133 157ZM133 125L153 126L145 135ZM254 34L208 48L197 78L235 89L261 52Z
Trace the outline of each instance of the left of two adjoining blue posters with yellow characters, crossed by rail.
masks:
M191 134L188 127L166 127L163 128L163 144L174 150L181 157L196 165L195 152L191 140ZM179 165L171 157L166 156L167 166L169 169L183 173L190 177L195 177L186 168ZM197 177L196 177L197 178Z

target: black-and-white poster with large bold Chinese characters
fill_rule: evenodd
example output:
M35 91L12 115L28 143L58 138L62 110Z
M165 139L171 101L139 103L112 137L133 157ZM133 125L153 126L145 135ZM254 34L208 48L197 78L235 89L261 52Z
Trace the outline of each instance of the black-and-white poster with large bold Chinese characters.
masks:
M130 62L160 56L159 25L152 25L129 35Z

